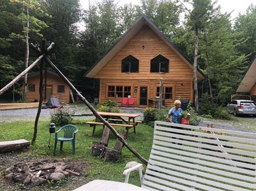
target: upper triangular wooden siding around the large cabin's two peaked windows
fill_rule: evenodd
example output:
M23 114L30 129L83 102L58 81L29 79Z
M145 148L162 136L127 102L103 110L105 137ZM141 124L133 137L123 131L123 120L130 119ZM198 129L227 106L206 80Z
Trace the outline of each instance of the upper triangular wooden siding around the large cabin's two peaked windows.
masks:
M144 45L144 49L142 46ZM129 55L139 60L139 73L121 73L121 62ZM150 73L150 61L162 54L169 63L169 73ZM95 78L98 79L180 79L192 80L193 71L149 27L143 26L105 66Z

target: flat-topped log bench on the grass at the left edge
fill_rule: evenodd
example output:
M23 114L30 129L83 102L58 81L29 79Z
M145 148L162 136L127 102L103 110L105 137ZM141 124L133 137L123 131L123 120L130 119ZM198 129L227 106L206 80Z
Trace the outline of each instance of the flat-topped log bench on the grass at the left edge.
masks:
M15 141L3 141L0 142L0 153L20 150L29 146L30 142L25 139L19 139Z

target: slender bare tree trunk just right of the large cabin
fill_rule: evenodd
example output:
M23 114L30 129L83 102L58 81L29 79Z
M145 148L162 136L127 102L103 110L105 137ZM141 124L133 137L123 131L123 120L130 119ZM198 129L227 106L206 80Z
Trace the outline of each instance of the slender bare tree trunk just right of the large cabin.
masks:
M198 52L198 27L197 24L195 25L196 31L196 41L195 41L195 54L194 54L194 64L193 64L193 80L194 80L194 95L195 95L195 111L198 113L199 105L198 105L198 88L197 88L197 52Z

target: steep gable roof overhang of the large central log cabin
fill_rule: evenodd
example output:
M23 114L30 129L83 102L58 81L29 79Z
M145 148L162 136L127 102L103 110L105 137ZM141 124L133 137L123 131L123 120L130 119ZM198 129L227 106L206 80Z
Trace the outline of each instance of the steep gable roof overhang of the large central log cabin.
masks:
M137 21L131 26L119 39L117 42L110 48L108 51L85 73L85 77L93 78L105 65L108 63L114 56L126 45L128 41L130 41L146 24L148 27L152 29L162 39L187 65L193 70L193 63L185 54L181 52L171 41L164 36L163 32L161 32L146 16L141 16L141 18L137 19ZM200 78L199 80L203 80L205 78L204 73L202 73L199 69L197 69L197 76Z

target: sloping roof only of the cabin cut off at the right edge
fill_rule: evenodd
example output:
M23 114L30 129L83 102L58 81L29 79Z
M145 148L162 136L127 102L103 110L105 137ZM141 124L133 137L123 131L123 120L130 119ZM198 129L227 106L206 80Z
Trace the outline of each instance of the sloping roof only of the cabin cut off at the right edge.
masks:
M240 86L237 88L237 92L250 92L256 83L256 57L254 58L253 63L247 70L245 77L243 77Z

